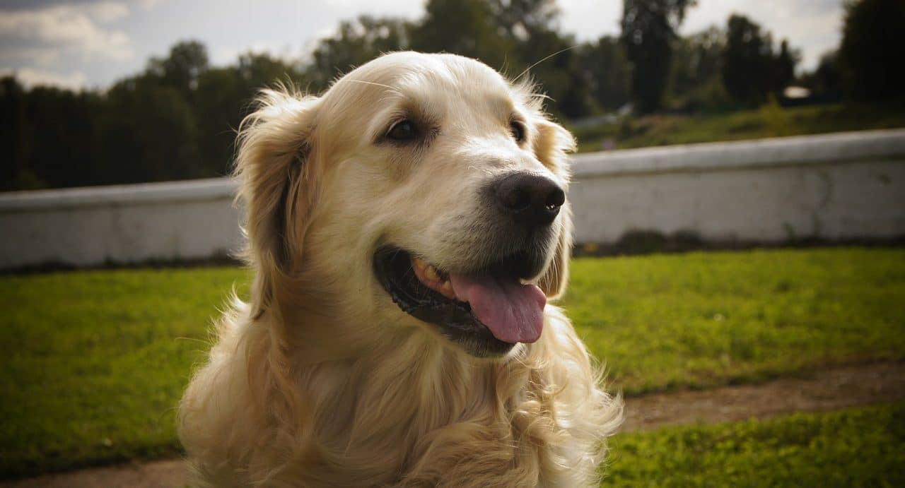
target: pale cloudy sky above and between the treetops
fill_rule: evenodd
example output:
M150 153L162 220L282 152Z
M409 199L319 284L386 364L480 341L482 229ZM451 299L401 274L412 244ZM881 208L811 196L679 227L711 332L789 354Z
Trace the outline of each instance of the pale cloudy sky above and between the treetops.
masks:
M559 5L561 30L579 41L619 31L621 0ZM0 72L27 85L106 87L179 40L204 42L214 64L249 50L299 58L340 20L423 12L419 0L0 0ZM799 68L813 69L839 43L842 0L699 0L681 33L725 25L734 12L788 38L804 55Z

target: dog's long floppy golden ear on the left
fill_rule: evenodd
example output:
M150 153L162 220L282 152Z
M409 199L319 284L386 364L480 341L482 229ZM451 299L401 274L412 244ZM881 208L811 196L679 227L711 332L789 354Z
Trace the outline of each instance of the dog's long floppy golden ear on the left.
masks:
M274 280L296 266L317 197L310 159L318 99L267 89L257 103L239 127L233 173L244 204L244 257L256 270L252 316L270 305Z

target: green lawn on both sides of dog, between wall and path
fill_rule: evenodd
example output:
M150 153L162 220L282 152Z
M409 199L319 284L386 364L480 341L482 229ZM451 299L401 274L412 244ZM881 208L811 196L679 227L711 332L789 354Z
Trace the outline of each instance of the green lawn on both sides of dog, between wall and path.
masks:
M905 249L578 258L565 300L627 394L905 358ZM0 475L175 455L174 407L247 272L0 277Z

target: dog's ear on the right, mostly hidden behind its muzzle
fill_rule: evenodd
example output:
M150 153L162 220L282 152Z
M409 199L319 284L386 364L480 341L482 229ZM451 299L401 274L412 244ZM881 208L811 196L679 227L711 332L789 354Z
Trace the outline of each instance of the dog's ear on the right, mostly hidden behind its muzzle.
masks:
M540 119L535 124L537 136L533 141L534 154L538 161L557 174L562 182L568 184L568 153L575 151L575 137L565 128L547 119ZM550 267L538 281L538 286L549 298L558 298L566 290L568 281L568 261L572 256L572 209L566 201L559 211L559 239L557 249Z

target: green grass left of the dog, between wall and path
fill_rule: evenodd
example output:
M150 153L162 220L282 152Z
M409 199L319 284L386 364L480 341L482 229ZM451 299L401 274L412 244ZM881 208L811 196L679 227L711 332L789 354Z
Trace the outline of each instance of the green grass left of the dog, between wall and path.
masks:
M0 474L176 455L175 405L237 268L0 277Z

